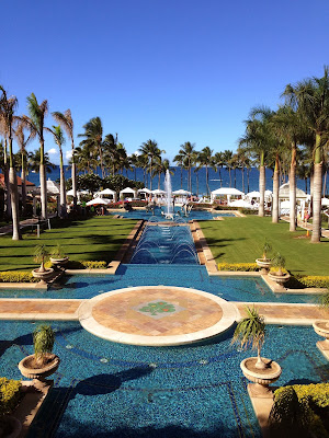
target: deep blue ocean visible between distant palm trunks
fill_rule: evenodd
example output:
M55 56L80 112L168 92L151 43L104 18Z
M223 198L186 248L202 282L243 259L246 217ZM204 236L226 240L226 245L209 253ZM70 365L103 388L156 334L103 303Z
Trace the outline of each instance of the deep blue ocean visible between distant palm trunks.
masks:
M188 189L188 171L183 170L182 172L182 184L181 184L181 170L180 168L173 166L171 168L173 171L173 175L171 175L171 185L172 185L172 191L178 191L180 188ZM197 183L196 183L196 175L194 172L194 169L192 169L192 193L198 195L206 195L207 188L206 188L206 171L205 169L201 169L198 172L198 191L197 191ZM208 169L208 182L209 182L209 189L215 191L216 188L219 187L236 187L239 191L242 191L245 193L252 192L252 191L258 191L259 189L259 170L256 168L252 168L249 172L249 187L248 187L248 178L247 178L247 170L245 169L245 191L242 187L242 171L240 169L236 170L236 182L235 182L235 171L231 171L231 185L229 183L229 172L226 168L220 169L220 175L222 178L219 177L218 172L215 172L213 169ZM270 169L266 169L266 189L272 191L273 187L273 181L272 181L272 175L273 172ZM71 176L71 172L68 169L68 166L65 166L65 176L66 178L69 178ZM135 180L135 172L134 171L124 171L124 176L127 176L129 180ZM57 165L54 170L52 170L50 173L47 174L47 178L50 178L52 181L59 181L59 165ZM34 183L35 185L39 185L39 176L38 173L32 173L27 175L27 180L31 181L31 183ZM136 169L136 180L137 181L143 181L143 169ZM222 181L220 181L222 180ZM282 181L281 184L283 184L286 181ZM147 175L147 187L150 187L149 184L149 175ZM160 188L163 189L164 185L164 175L161 175L160 178ZM305 186L305 181L304 180L297 180L297 186L302 188L303 191L306 191ZM158 188L158 176L154 177L152 180L152 189ZM307 191L309 193L309 181L307 182Z

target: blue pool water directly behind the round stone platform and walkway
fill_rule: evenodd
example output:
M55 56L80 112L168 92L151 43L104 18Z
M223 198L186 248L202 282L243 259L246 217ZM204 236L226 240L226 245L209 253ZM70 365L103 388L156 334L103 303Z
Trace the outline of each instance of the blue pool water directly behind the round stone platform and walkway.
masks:
M92 298L134 286L180 286L201 289L229 301L316 302L314 296L273 293L260 277L209 277L200 265L121 265L117 274L75 275L49 290L2 290L0 298Z

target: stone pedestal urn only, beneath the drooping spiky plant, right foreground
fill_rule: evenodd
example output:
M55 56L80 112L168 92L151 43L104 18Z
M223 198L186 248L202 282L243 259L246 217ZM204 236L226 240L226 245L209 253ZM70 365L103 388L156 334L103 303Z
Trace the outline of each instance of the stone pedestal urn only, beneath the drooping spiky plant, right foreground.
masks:
M240 364L243 376L253 382L248 384L249 395L262 399L272 397L273 392L269 385L280 378L282 369L279 364L264 357L262 358L262 361L266 365L264 369L257 368L257 357L248 357Z

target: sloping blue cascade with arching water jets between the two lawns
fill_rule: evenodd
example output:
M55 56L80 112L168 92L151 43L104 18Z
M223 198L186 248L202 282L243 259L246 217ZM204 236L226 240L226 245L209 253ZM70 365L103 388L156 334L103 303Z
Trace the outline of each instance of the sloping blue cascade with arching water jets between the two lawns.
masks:
M147 226L131 264L198 265L190 227Z

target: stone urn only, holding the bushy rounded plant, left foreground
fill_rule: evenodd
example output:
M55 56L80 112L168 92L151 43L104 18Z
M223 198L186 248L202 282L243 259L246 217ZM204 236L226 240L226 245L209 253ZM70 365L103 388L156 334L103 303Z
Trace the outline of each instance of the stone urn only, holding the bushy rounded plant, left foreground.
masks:
M46 384L46 378L54 374L57 371L60 359L58 356L53 355L50 353L45 354L45 362L42 366L38 366L35 359L35 355L30 355L24 357L19 364L19 370L22 376L27 379L32 379L35 381L35 387L43 387Z

